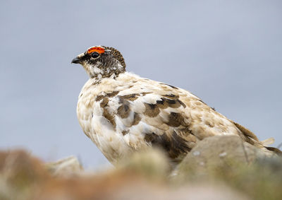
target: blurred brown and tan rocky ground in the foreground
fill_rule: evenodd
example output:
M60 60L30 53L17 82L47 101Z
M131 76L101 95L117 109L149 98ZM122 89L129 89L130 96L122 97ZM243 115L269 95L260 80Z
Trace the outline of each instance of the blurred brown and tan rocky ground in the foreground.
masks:
M282 199L281 187L281 158L234 136L201 141L173 170L157 150L99 173L73 157L46 164L23 150L0 152L1 200Z

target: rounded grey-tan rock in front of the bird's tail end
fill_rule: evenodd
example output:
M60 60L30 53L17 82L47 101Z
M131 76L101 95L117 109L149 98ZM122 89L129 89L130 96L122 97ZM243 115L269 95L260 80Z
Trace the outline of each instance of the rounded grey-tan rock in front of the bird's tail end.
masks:
M250 164L258 158L277 157L274 153L262 150L244 142L238 136L212 136L197 143L180 163L181 173L189 170L203 171L215 167L232 167L235 163Z

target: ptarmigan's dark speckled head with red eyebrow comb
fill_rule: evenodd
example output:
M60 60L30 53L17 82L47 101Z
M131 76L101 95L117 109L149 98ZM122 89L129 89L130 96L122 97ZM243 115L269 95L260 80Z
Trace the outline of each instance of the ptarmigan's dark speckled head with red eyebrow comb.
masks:
M116 77L125 72L121 52L113 47L94 46L79 54L71 63L81 64L90 78Z

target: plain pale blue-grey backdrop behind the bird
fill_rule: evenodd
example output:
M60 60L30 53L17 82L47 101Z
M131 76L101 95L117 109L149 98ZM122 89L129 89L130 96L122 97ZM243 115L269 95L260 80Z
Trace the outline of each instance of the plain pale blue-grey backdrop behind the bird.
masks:
M88 77L71 60L93 45L282 142L282 1L2 0L0 24L0 149L110 165L76 118Z

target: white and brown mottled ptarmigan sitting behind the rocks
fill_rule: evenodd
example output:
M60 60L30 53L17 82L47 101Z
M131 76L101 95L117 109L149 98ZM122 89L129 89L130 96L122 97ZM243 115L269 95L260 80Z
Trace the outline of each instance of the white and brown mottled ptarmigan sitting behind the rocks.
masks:
M147 148L160 148L177 165L198 141L217 135L237 135L281 152L188 90L126 71L114 47L90 47L71 63L81 64L89 76L78 96L80 127L113 165Z

